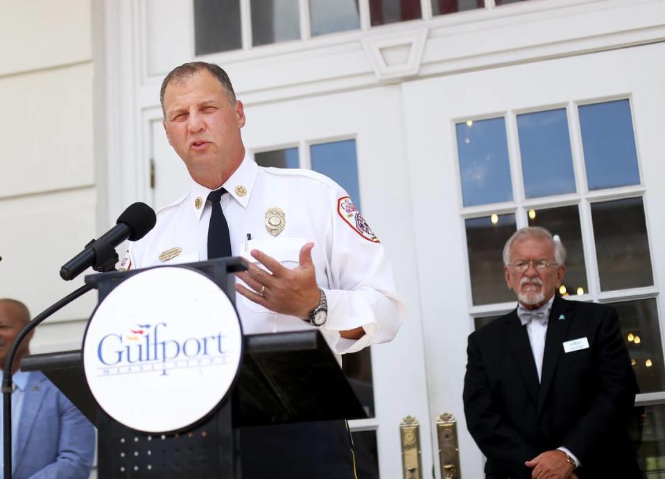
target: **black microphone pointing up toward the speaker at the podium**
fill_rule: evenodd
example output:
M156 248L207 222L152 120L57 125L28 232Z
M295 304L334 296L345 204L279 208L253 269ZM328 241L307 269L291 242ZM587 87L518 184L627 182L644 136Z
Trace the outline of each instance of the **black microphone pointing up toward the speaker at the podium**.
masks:
M137 241L155 227L157 216L155 211L147 204L136 202L130 204L123 214L121 214L116 225L105 232L97 240L92 240L85 245L85 249L67 261L60 268L60 277L66 281L76 278L89 266L95 270L110 265L113 269L118 261L118 254L115 247L129 238L130 241Z

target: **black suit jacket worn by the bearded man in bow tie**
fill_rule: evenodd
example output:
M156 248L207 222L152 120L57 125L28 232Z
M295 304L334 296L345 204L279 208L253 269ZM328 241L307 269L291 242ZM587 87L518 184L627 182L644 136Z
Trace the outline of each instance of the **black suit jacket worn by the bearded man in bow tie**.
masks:
M587 338L569 353L563 343ZM526 460L565 446L582 478L641 478L628 439L637 381L611 306L556 297L542 378L517 310L469 336L464 411L492 478L530 478Z

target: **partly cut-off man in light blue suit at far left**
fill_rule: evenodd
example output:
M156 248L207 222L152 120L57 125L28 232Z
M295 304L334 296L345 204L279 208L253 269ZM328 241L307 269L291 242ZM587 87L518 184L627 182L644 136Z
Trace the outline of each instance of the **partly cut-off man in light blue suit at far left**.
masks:
M29 320L23 303L0 299L1 365ZM31 338L32 333L21 343L12 371L12 478L87 479L94 456L94 427L44 374L19 370Z

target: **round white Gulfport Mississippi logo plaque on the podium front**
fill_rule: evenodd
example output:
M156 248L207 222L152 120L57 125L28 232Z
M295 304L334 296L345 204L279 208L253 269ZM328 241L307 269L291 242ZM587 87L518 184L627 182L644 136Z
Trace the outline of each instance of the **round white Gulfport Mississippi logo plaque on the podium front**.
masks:
M124 426L178 432L225 398L242 336L233 304L209 277L152 268L97 306L83 340L85 377L98 405Z

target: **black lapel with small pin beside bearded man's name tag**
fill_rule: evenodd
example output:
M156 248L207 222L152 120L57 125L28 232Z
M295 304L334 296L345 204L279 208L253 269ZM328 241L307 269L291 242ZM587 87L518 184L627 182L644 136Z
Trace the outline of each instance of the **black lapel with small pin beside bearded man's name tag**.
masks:
M540 399L538 412L542 410L547 392L552 384L559 356L563 350L562 343L570 327L573 315L570 303L560 297L555 297L552 303L552 311L547 320L547 336L545 338L545 351L543 354L543 369L540 381Z

